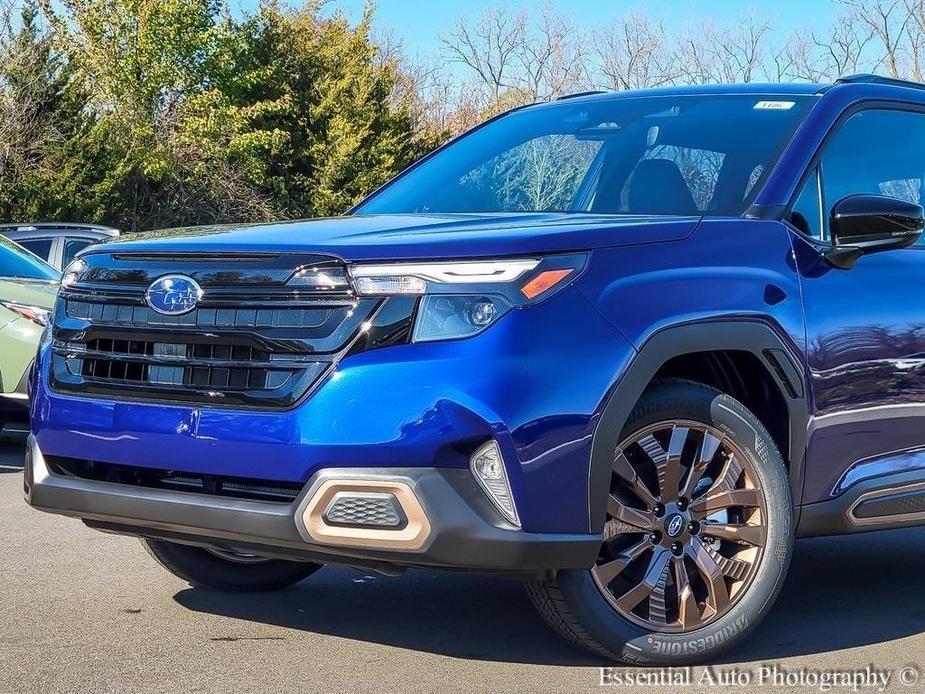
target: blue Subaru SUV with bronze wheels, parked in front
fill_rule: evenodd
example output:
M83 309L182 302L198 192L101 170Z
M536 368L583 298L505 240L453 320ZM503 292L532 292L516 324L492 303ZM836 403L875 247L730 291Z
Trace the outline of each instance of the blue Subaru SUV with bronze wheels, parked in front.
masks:
M919 85L583 94L342 218L94 246L26 499L194 585L517 576L595 653L707 660L795 536L925 522L923 179Z

